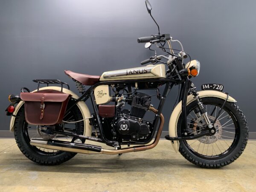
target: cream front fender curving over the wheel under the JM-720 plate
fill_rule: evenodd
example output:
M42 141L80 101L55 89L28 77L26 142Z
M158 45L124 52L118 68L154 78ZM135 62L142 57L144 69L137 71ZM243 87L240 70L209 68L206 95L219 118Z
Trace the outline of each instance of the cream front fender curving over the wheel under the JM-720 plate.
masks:
M215 90L198 91L198 96L200 98L203 98L203 97L217 97L217 98L220 98L220 99L223 99L223 100L225 100L227 98L227 95L225 93L215 91ZM186 105L189 105L189 103L191 103L193 101L195 101L194 96L189 95L187 97ZM228 102L236 102L236 100L231 96L228 96L227 101ZM177 137L177 122L178 122L178 119L179 119L181 111L182 111L181 103L182 102L179 102L176 105L176 107L173 110L172 115L170 117L170 121L169 121L169 136L170 137ZM172 143L172 147L174 148L176 153L179 150L179 145L180 145L179 141L174 141Z

